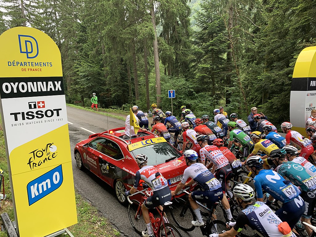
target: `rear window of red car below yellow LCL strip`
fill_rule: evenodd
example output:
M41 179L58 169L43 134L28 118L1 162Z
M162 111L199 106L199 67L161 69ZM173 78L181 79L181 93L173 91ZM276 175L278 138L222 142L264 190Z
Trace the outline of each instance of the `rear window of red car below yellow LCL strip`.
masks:
M140 147L131 151L134 158L138 154L148 156L148 165L160 165L167 161L174 160L182 156L182 154L167 142L155 143L149 146Z

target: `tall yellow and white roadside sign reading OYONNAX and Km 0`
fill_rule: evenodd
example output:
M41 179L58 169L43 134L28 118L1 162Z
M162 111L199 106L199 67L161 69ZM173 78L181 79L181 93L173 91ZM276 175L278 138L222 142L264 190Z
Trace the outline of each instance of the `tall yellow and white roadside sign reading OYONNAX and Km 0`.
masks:
M30 27L7 30L0 44L1 113L17 232L46 236L77 223L60 52L49 36Z

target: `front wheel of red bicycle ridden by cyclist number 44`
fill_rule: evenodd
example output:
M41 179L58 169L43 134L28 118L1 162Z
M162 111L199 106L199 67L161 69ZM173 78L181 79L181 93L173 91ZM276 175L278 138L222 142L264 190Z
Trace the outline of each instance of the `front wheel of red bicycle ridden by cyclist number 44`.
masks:
M142 234L145 229L142 209L138 201L132 200L132 202L133 204L128 205L128 218L130 219L131 225L137 234Z

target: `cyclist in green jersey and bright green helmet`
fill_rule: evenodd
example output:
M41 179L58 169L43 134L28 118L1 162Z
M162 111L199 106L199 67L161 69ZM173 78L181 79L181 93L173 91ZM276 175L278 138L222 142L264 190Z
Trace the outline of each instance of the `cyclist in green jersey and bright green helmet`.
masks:
M236 139L241 144L241 148L239 150L240 154L242 154L244 158L248 157L254 148L251 138L245 132L236 128L237 124L235 122L229 122L227 126L228 130L230 131L228 149L232 147L233 140ZM238 146L237 143L235 145Z

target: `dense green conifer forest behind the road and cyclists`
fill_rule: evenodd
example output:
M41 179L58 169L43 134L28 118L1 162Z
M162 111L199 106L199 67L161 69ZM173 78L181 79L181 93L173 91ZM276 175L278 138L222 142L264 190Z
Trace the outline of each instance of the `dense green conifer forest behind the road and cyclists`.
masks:
M0 33L30 26L58 45L66 100L143 111L252 106L289 120L295 60L316 45L313 0L1 0ZM178 113L178 112L177 112ZM177 115L176 113L176 115Z

